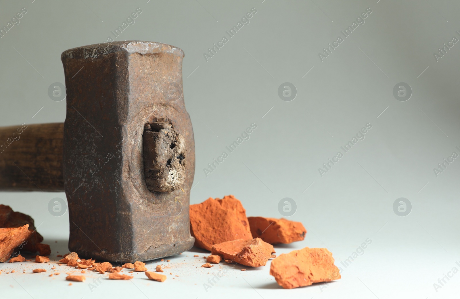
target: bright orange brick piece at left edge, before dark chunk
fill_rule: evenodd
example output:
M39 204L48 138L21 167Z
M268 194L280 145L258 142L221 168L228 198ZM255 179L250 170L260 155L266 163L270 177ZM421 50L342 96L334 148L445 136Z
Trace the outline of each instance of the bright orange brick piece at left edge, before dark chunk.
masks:
M23 244L31 234L29 224L16 228L0 229L0 263L10 259L14 249Z

